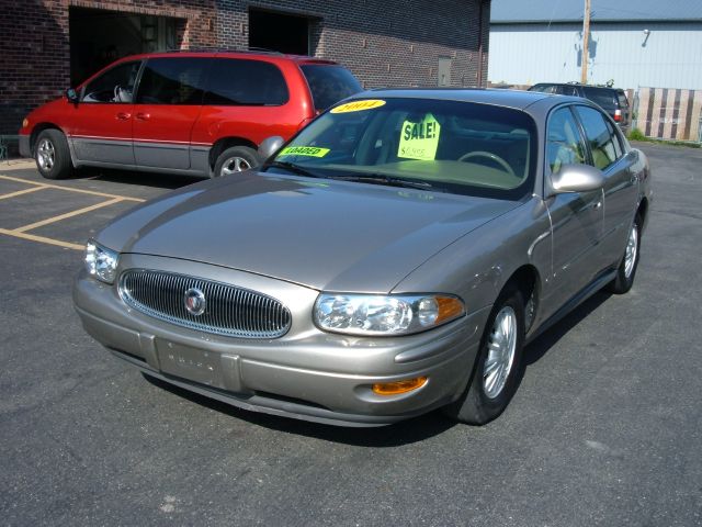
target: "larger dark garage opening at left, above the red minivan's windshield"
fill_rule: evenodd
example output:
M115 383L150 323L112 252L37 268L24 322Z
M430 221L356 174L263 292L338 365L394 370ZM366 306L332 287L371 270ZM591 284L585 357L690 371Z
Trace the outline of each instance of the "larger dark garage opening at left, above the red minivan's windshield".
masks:
M76 86L117 58L177 49L185 21L168 16L71 7L70 81Z

